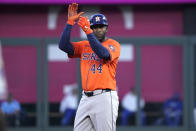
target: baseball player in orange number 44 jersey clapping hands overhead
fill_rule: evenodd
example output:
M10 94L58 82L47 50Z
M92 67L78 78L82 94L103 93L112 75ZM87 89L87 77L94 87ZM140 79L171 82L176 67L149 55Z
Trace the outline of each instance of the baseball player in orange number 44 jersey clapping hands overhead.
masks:
M118 116L116 66L120 44L107 38L108 22L103 14L90 18L77 13L78 4L68 9L68 21L59 41L59 48L70 58L81 59L83 95L74 121L74 131L115 131ZM88 40L70 42L72 26L77 24Z

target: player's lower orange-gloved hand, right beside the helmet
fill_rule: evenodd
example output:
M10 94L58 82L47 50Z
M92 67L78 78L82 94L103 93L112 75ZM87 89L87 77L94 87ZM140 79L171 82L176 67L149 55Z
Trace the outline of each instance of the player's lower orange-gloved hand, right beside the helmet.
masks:
M88 17L80 16L80 19L78 21L78 25L82 28L82 30L88 35L92 33L92 29L90 28L90 22L88 20Z

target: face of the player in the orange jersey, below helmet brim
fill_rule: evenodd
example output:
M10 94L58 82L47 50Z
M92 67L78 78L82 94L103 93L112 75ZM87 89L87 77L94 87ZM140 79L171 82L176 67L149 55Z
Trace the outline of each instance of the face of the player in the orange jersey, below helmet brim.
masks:
M95 26L92 26L92 30L93 30L95 36L97 37L97 39L100 42L103 42L105 40L105 35L106 35L106 32L107 32L107 26L105 26L105 25L95 25Z

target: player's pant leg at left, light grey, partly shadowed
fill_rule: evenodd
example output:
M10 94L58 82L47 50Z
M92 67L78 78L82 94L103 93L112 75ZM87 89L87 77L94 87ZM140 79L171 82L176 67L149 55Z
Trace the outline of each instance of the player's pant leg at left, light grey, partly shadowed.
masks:
M88 98L83 95L76 112L74 131L95 131L93 123L89 117L89 106Z

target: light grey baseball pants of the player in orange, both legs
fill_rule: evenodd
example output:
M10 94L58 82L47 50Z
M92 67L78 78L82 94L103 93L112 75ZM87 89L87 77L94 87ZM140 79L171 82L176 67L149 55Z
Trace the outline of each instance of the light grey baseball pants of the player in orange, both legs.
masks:
M74 131L116 131L119 100L116 91L88 97L83 93Z

